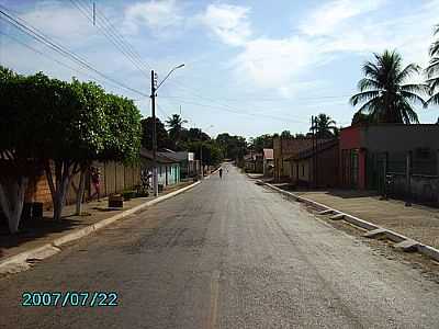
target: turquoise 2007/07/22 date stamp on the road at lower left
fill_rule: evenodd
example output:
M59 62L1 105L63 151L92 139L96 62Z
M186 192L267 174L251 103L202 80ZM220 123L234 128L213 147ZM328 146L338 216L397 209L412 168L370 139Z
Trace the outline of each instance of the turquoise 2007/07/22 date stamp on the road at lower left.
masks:
M117 306L115 292L24 292L21 305L24 307L105 307Z

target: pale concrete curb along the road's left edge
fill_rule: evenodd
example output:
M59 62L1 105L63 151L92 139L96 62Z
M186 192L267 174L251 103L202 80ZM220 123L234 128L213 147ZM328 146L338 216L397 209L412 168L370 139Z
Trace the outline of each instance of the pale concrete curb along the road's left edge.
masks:
M143 211L144 208L147 208L147 207L155 205L159 202L162 202L167 198L170 198L180 193L183 193L183 192L196 186L200 183L201 183L200 181L194 182L188 186L184 186L184 188L173 191L171 193L165 194L162 196L158 196L157 198L145 202L138 206L135 206L131 209L122 212L117 215L102 219L90 226L74 230L69 234L66 234L59 238L54 239L52 242L48 242L41 247L33 248L31 250L26 250L26 251L20 252L18 254L11 256L0 262L0 274L11 274L11 273L16 273L16 272L26 270L30 268L30 264L29 264L30 261L40 261L40 260L43 260L50 256L54 256L55 253L58 253L59 251L61 251L60 246L63 246L63 245L66 245L68 242L83 238L83 237L92 234L93 231L97 231L97 230L99 230L114 222L117 222L126 216L135 214L139 211Z

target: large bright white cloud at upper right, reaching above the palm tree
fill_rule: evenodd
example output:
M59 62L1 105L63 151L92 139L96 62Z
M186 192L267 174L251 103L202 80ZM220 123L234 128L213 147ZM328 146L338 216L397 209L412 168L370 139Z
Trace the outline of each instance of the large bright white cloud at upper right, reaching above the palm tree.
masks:
M319 79L316 68L346 54L370 59L372 53L395 48L406 64L425 65L432 25L439 23L435 14L439 1L424 2L409 12L402 10L395 18L383 15L397 11L387 5L392 4L383 0L334 0L323 4L305 16L296 35L246 41L233 61L236 77L243 86L251 83L293 97L297 86ZM378 14L371 13L378 9L382 9Z

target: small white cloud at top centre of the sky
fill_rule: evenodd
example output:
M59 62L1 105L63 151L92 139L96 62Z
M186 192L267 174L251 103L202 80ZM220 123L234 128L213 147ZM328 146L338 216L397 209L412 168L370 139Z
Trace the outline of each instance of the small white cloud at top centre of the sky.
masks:
M249 11L249 8L240 5L210 4L200 20L223 43L240 46L251 36Z

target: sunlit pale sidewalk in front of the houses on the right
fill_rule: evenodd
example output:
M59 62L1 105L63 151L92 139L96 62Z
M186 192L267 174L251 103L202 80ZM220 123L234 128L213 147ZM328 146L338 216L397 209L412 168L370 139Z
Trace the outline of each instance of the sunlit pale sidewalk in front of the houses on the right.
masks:
M370 192L291 192L439 248L439 209L415 204L406 207L403 201L382 201Z

